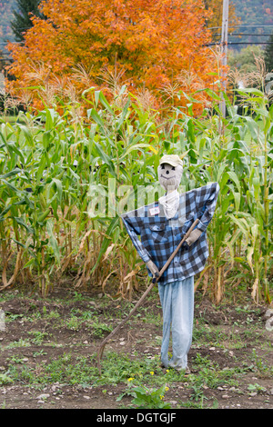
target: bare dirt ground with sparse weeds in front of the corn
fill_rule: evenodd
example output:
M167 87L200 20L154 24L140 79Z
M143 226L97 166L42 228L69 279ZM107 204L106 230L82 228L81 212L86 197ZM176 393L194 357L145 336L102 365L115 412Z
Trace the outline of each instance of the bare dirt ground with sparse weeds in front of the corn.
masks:
M136 294L135 300L140 295ZM157 293L147 299L138 315L106 345L105 376L101 384L96 381L94 355L110 327L116 326L132 306L106 295L63 289L54 290L44 300L38 294L18 290L1 293L5 331L0 331L0 408L130 407L131 396L117 400L126 391L127 379L114 381L109 377L109 382L106 381L107 354L116 353L117 370L121 363L118 355L127 356L135 363L138 358L144 361L144 366L145 361L158 359L162 325ZM273 333L266 329L268 308L250 300L216 307L207 297L197 294L195 333L188 355L191 374L180 379L167 377L165 401L174 409L213 407L215 402L218 409L272 409ZM69 372L67 367L66 372L61 372L65 359ZM60 360L63 364L53 364ZM86 361L81 368L77 365L79 360ZM84 369L86 382L80 377ZM88 376L88 369L94 372L93 380ZM148 375L156 379L165 374L159 362L153 369L155 372L144 375L144 382ZM230 372L229 380L225 377L225 381L215 382L225 372ZM232 377L234 384L230 382Z

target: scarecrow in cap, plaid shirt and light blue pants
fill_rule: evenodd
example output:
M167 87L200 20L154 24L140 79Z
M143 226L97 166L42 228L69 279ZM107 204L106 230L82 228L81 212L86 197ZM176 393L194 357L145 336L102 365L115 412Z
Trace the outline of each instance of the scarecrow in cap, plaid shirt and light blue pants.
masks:
M207 225L215 212L219 186L212 183L179 194L182 173L178 155L163 155L157 175L166 194L158 202L123 214L122 219L153 279L158 277L190 226L199 220L157 281L163 312L161 362L164 367L189 372L187 353L192 342L194 276L203 270L207 260ZM173 352L169 360L170 333Z

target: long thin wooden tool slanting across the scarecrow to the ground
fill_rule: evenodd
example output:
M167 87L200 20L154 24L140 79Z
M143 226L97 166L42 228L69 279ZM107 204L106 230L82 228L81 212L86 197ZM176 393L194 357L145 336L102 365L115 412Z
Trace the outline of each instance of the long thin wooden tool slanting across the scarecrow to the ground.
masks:
M116 328L109 333L109 335L106 336L106 338L104 339L104 341L100 344L100 347L98 349L97 352L97 367L98 367L98 372L101 375L101 365L100 365L100 361L102 359L103 356L103 352L104 352L104 348L106 346L107 341L109 341L116 333L117 331L119 331L120 328L122 328L122 326L129 320L129 318L136 312L137 308L144 302L144 300L147 297L147 294L153 289L155 283L158 282L158 280L160 279L160 277L162 276L162 274L167 270L167 267L169 266L169 264L173 261L174 257L176 256L177 252L179 251L179 249L181 248L182 244L186 241L187 237L189 236L189 234L193 231L193 229L197 226L197 223L199 222L199 220L197 219L194 223L192 223L192 225L190 226L190 228L187 230L187 233L184 235L183 239L181 240L181 242L178 244L177 248L175 249L175 251L171 254L171 256L168 258L167 263L164 264L164 266L162 267L162 269L160 270L159 274L157 277L155 277L152 280L152 283L149 284L149 286L147 287L147 290L145 291L145 293L143 293L143 295L141 296L141 298L137 301L135 307L133 308L133 310L126 316L126 318L121 322L118 323L118 325L116 326Z

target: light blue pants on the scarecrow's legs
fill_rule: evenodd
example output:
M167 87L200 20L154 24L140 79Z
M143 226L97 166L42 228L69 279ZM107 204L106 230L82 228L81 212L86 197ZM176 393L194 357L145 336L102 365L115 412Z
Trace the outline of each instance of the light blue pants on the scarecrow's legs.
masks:
M177 369L187 368L187 353L192 342L194 315L194 276L185 280L159 284L159 298L163 311L161 362ZM172 332L173 354L168 360L168 345Z

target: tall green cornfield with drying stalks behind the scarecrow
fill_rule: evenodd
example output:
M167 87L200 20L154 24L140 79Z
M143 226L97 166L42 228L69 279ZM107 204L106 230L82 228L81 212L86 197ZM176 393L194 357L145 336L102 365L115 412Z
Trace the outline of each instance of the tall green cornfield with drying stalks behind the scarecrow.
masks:
M112 103L91 89L86 114L67 102L20 113L13 124L1 119L0 290L20 283L45 296L68 278L75 289L111 284L115 296L131 298L147 274L119 214L136 208L136 194L146 204L160 156L179 154L184 191L220 186L196 288L219 303L243 285L255 302L270 302L273 105L246 89L239 114L223 94L223 117L219 94L205 92L211 104L198 118L189 95L187 109L162 117L122 87Z

